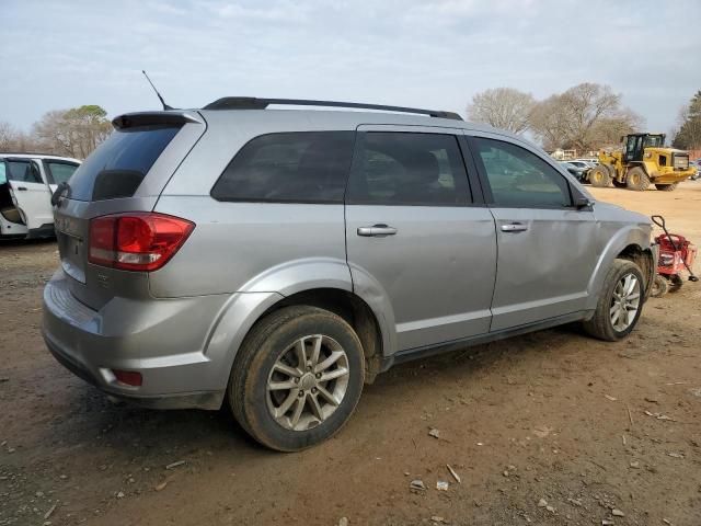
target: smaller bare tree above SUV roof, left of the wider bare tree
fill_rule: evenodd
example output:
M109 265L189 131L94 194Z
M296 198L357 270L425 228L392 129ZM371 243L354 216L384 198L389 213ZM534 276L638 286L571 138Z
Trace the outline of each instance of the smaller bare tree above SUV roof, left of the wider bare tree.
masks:
M530 93L513 88L496 88L476 93L468 105L468 117L495 128L521 134L529 127L529 115L536 100Z

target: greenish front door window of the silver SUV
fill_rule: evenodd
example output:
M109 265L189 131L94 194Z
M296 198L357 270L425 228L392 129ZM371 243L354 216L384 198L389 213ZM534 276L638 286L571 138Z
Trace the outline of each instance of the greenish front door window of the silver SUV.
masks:
M530 208L572 205L566 179L540 157L501 140L475 138L474 144L495 205Z

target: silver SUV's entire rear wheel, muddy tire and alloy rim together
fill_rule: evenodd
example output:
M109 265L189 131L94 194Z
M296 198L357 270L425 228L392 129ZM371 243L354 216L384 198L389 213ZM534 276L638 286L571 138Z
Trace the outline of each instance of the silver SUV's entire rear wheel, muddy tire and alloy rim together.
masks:
M363 345L341 317L294 306L258 321L235 357L228 399L258 443L299 451L336 434L360 399Z

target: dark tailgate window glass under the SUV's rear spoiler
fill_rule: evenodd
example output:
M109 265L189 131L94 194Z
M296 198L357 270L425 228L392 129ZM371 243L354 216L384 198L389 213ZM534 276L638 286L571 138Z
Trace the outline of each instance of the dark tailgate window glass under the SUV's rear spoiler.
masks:
M70 178L70 198L130 197L180 127L115 129Z

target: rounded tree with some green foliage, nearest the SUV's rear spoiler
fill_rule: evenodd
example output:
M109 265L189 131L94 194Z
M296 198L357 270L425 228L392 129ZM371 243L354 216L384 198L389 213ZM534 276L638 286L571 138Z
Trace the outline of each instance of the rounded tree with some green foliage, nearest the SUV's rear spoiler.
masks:
M107 112L96 105L46 113L34 125L43 150L84 159L112 132Z

